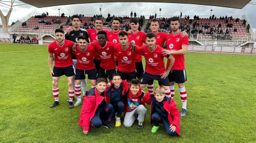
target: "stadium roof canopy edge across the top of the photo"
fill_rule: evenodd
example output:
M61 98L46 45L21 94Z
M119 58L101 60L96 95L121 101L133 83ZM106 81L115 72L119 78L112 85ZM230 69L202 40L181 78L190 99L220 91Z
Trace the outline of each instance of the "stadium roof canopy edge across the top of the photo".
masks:
M167 3L179 3L179 4L198 4L198 5L212 5L217 7L229 7L229 8L243 8L251 0L20 0L27 4L33 5L37 8L52 7L57 5L69 5L69 4L86 4L86 3L98 3L98 2L167 2Z

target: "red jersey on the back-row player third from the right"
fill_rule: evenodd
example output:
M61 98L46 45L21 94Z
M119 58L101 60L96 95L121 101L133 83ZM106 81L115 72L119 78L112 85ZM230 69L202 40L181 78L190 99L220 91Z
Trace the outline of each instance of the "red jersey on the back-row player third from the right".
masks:
M137 46L141 47L143 45L143 42L145 43L146 41L146 34L143 32L136 32L135 34L128 34L128 42L134 42ZM142 56L141 55L136 55L134 62L140 62L142 61Z

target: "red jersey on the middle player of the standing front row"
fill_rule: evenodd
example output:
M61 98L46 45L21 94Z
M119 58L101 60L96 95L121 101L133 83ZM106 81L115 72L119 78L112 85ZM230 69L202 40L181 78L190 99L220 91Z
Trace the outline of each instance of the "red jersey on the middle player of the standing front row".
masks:
M90 43L99 53L99 57L101 57L101 68L106 70L116 68L116 61L114 60L114 45L115 42L106 41L106 45L101 47L99 41Z

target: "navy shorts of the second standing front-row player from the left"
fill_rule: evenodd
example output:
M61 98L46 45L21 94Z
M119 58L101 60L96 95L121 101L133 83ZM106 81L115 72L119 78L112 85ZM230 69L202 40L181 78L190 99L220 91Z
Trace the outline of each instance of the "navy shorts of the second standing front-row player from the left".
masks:
M75 70L75 80L83 80L86 78L86 74L88 75L89 80L96 80L96 69L90 69L90 70L81 70L76 69Z

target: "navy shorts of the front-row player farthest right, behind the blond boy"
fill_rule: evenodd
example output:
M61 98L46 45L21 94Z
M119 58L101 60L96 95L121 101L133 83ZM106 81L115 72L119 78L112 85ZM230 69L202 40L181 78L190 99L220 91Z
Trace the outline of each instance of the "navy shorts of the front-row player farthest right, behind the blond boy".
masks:
M149 74L148 72L144 72L142 80L140 80L140 84L154 84L154 80L157 80L158 84L162 86L169 86L168 77L162 79L161 75Z

